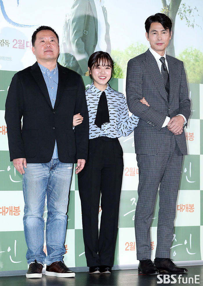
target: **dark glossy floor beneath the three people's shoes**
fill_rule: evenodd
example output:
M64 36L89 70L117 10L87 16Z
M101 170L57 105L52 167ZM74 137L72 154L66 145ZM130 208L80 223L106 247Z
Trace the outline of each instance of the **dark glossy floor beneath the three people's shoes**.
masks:
M6 276L0 277L0 286L155 286L159 284L197 284L203 286L203 265L187 266L187 269L188 274L176 274L172 277L167 273L163 273L162 276L138 275L137 269L114 270L111 274L92 275L89 275L88 272L77 272L75 278L57 278L44 274L41 279L28 279L26 276ZM195 277L199 279L196 280L196 283Z

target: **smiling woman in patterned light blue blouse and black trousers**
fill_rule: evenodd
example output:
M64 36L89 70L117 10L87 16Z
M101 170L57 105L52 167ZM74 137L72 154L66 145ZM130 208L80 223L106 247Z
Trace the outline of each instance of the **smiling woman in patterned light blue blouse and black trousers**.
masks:
M108 84L113 73L113 60L108 53L93 53L88 70L93 79L86 90L89 155L83 171L78 173L78 187L87 266L90 274L100 274L111 273L114 261L123 176L123 150L118 137L128 136L139 118L129 118L126 98ZM144 98L141 102L148 104ZM98 231L100 193L102 216Z

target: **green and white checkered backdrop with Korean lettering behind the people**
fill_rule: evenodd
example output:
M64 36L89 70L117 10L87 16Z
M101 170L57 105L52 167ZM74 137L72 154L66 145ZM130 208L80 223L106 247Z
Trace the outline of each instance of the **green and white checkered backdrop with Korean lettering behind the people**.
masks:
M9 159L4 105L7 89L14 72L0 71L0 271L27 269L27 246L23 233L22 175L15 171ZM88 87L90 79L83 77ZM112 88L125 93L125 79L113 79ZM203 260L203 85L190 84L192 114L186 131L189 155L184 157L180 191L177 200L174 239L171 257L175 261ZM134 215L137 202L138 167L133 133L119 138L124 151L124 174L120 201L119 230L115 251L115 265L135 265L136 243ZM151 227L152 257L155 256L156 225L159 198ZM101 207L99 208L101 217ZM44 220L46 222L45 207ZM82 235L81 205L77 175L73 173L68 206L68 226L64 262L69 267L86 266ZM44 245L46 252L46 244ZM0 272L1 275L1 272Z

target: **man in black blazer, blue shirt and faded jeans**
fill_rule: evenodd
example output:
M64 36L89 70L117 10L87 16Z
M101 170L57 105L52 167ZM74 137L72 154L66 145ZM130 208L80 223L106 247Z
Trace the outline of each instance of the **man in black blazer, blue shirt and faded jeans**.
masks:
M46 275L73 277L63 254L73 163L77 162L79 173L88 153L84 86L77 73L57 63L59 38L52 28L37 28L32 46L37 62L12 78L5 112L10 160L23 174L26 277L41 278L44 263ZM76 113L81 113L83 122L73 129ZM43 251L45 195L47 257Z

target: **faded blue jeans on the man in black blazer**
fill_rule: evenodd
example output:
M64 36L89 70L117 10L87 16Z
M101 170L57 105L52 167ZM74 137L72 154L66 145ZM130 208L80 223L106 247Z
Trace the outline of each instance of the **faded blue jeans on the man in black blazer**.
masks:
M63 260L67 225L67 207L72 163L61 163L51 159L48 163L28 163L23 174L23 195L25 201L23 225L28 246L28 264L50 265ZM47 194L46 248L44 246L44 204Z

